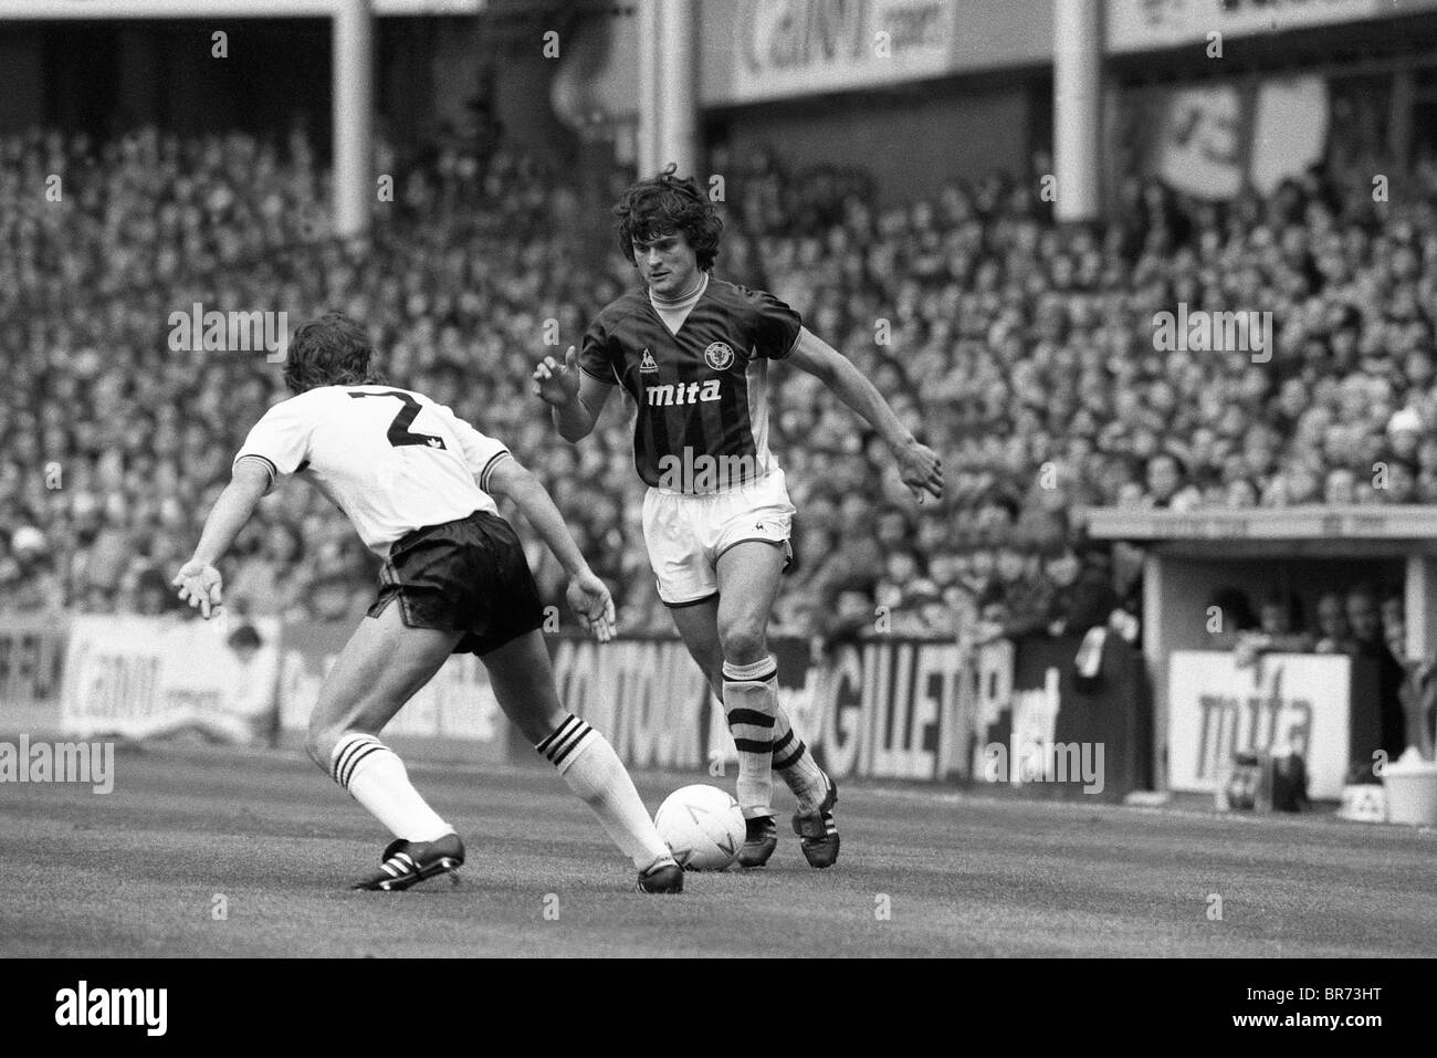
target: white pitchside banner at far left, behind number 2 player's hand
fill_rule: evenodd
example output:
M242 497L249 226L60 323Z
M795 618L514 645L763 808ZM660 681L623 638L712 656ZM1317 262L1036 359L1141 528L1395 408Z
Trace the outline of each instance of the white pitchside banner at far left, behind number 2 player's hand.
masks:
M180 617L76 617L65 654L60 722L83 737L151 737L184 727L249 742L273 714L279 621L260 645L228 645L228 624Z

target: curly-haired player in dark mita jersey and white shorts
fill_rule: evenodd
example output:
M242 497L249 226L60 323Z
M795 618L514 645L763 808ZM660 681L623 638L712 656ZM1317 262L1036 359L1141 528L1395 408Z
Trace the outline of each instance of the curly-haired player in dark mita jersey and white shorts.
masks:
M568 441L586 437L614 387L638 405L634 461L650 486L644 540L658 595L723 700L739 749L744 867L777 845L773 772L799 802L793 831L813 867L838 858L832 779L779 706L769 612L792 558L793 505L769 450L769 361L822 381L888 443L920 502L943 494L937 454L908 433L854 364L773 295L713 275L723 221L670 165L614 210L642 286L604 308L563 364L546 356L533 390Z

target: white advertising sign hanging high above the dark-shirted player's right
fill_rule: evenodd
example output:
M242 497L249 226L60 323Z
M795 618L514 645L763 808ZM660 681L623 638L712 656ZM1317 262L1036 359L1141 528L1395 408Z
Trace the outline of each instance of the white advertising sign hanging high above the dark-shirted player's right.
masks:
M947 73L958 7L951 0L740 0L731 102Z

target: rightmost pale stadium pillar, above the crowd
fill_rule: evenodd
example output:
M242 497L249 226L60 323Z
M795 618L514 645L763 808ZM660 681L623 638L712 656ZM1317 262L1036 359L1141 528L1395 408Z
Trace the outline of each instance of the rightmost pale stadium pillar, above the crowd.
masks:
M1053 165L1058 220L1095 220L1102 203L1102 0L1053 0Z

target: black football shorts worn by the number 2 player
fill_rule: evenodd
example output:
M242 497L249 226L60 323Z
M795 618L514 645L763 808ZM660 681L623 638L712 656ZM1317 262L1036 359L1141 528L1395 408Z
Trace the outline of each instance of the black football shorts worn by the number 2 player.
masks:
M456 654L487 654L543 625L543 604L509 523L476 510L405 533L379 571L378 617L395 599L410 628L461 631Z

